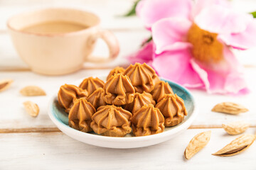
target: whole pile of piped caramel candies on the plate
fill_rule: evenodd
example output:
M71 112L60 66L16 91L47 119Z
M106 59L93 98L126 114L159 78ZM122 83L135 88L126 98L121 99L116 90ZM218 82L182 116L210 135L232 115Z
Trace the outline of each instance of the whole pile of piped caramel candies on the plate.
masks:
M154 135L187 115L183 100L145 63L112 69L106 83L89 77L79 87L60 86L58 103L71 128L111 137Z

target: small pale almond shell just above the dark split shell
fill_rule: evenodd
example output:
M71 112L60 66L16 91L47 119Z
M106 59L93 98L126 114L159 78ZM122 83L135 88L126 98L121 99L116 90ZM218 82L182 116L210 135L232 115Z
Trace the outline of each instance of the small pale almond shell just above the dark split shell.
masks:
M238 121L228 124L223 124L223 129L228 132L229 135L238 135L245 132L247 128L250 127L250 123L245 123L244 121Z

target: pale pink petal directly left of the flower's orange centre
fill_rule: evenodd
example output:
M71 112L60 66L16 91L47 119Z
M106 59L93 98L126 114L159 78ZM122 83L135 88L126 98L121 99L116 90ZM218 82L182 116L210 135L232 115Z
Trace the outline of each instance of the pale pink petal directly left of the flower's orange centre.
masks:
M186 18L164 18L152 26L152 38L156 44L156 54L164 50L180 50L191 45L186 37L191 21ZM174 47L171 47L174 45Z

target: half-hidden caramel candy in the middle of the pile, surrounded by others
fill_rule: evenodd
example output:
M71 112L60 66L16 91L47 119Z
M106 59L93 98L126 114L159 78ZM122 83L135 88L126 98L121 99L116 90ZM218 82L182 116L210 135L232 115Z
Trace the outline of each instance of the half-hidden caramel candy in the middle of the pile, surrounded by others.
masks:
M134 101L132 101L132 103L125 105L124 109L134 114L140 108L142 108L142 106L149 106L149 104L155 105L156 102L154 101L151 94L143 91L143 94L135 93Z

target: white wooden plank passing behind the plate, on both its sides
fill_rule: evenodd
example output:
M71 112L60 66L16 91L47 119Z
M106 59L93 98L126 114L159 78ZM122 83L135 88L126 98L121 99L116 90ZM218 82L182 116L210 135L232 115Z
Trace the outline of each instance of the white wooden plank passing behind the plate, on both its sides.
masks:
M251 94L247 96L222 96L206 94L205 91L191 90L191 93L196 98L198 107L198 117L193 122L197 128L208 128L213 126L220 127L222 123L228 123L231 121L245 120L251 123L252 126L256 125L256 106L252 102L255 99L255 86L256 79L250 79L256 74L256 69L246 69L246 78L248 84L250 84ZM0 72L0 79L11 78L14 79L14 84L11 88L1 92L0 102L1 108L1 119L0 129L18 129L18 128L55 128L55 125L51 122L47 115L47 107L50 96L58 92L59 87L62 84L72 84L78 79L83 77L90 77L93 75L107 74L110 69L91 69L81 70L75 74L68 74L60 77L47 77L32 72ZM21 96L18 91L24 86L38 85L41 86L47 93L47 96L38 97L24 97ZM41 111L38 118L31 118L24 111L22 103L23 101L34 101L38 103ZM225 113L214 113L211 112L211 108L215 104L231 101L240 103L249 109L247 113L240 113L240 115L228 115Z

